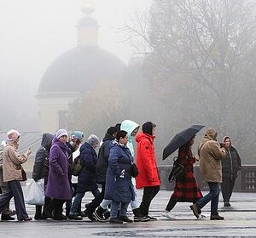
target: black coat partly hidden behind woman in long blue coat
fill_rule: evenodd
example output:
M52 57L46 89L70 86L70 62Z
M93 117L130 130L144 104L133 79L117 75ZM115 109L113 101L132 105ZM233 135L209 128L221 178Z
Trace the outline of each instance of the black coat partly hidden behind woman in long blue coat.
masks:
M99 150L98 161L96 164L96 182L98 184L106 183L106 173L108 169L108 157L110 148L113 146L114 137L106 133L102 146Z

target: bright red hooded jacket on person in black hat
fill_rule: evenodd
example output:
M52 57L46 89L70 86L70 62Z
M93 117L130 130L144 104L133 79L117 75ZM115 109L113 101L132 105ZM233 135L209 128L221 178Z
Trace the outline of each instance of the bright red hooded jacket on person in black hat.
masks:
M136 187L152 187L160 185L160 178L154 154L154 136L137 133L137 168Z

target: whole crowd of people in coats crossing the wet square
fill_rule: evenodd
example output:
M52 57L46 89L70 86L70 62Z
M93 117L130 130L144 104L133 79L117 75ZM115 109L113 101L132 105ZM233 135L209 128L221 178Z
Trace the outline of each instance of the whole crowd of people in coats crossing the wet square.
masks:
M91 221L109 221L112 224L156 220L149 214L151 202L160 191L154 150L156 125L145 122L141 132L139 128L136 122L125 120L108 127L102 141L91 134L85 142L81 131L73 131L69 136L65 129L55 134L44 133L35 156L32 178L36 182L44 178L45 198L44 206L36 205L34 218L82 220L88 217ZM191 150L195 136L178 149L177 157L184 167L184 174L175 180L174 191L162 213L163 217L173 218L172 209L177 202L191 202L190 209L195 217L204 218L201 209L211 201L210 219L224 219L218 214L219 184L224 207L230 207L237 172L241 170L241 159L231 145L230 137L226 136L218 143L217 135L214 129L207 128L198 148L198 158ZM20 181L26 180L22 164L32 151L28 149L20 154L17 151L19 139L20 133L10 130L0 147L2 220L13 220L15 214L20 221L32 220L26 213L20 185ZM134 144L137 144L136 152ZM207 195L202 195L195 179L193 167L196 160L200 161L201 176L209 186ZM74 161L79 161L79 171L76 173ZM143 189L141 201L137 189ZM81 201L86 192L92 193L94 199L82 211ZM9 201L13 197L15 211L9 208ZM127 215L129 204L133 219Z

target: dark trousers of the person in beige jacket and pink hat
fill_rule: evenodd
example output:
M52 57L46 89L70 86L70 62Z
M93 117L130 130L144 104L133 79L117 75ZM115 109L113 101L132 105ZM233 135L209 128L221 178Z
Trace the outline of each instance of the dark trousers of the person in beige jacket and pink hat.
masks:
M8 182L9 192L0 195L0 212L9 206L9 201L14 197L15 210L18 220L27 218L24 196L21 189L20 181L14 180Z

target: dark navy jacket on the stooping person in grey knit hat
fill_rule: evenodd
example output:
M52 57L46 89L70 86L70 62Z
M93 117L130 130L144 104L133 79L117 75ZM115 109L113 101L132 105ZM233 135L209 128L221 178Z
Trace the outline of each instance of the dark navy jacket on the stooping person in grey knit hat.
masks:
M87 142L80 148L80 158L82 164L82 170L79 173L79 183L77 186L77 192L87 192L97 189L96 184L96 163L97 155L96 151Z

